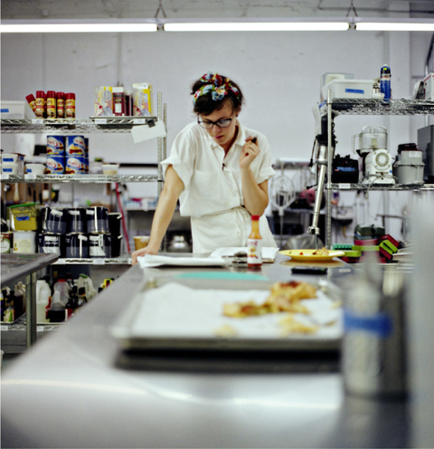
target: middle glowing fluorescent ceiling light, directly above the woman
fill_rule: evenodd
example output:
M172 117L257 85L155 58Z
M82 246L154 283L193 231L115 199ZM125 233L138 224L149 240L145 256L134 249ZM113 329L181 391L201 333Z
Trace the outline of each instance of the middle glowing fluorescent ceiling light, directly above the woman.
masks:
M168 32L346 31L348 22L165 22Z

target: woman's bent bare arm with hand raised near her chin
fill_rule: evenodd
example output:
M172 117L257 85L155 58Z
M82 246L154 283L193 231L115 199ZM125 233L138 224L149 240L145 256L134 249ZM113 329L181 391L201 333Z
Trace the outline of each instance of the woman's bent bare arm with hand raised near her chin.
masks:
M240 170L244 207L250 215L263 215L269 205L269 181L258 184L250 168L250 164L258 155L258 145L253 142L253 138L248 138L242 147Z

